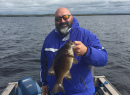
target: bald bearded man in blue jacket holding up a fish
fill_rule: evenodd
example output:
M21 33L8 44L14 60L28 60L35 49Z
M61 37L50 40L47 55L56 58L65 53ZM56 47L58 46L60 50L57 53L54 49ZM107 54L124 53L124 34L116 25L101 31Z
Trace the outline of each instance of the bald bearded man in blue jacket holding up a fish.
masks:
M78 21L67 8L61 7L55 12L55 27L56 29L46 37L41 52L43 95L46 95L48 90L51 93L56 80L55 76L48 75L55 52L68 40L76 44L73 50L78 64L73 65L70 70L72 80L63 80L65 93L59 92L55 95L93 95L95 87L89 66L106 65L106 50L100 45L96 35L79 27Z

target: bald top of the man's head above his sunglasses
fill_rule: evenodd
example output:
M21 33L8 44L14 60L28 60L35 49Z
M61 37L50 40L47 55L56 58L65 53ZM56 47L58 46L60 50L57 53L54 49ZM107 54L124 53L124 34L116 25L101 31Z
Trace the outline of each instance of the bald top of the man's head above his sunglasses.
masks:
M55 12L55 17L63 16L63 15L71 15L70 11L65 7L60 7Z

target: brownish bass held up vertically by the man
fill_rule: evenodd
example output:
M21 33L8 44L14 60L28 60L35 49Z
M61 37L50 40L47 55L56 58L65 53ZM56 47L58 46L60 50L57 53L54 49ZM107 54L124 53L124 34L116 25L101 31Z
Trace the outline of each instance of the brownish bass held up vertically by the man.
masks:
M65 93L63 87L63 79L71 81L72 77L70 69L72 64L77 64L78 61L74 57L73 47L75 46L71 40L67 41L57 52L54 57L52 66L49 68L48 75L55 75L56 81L52 89L52 94L58 92Z

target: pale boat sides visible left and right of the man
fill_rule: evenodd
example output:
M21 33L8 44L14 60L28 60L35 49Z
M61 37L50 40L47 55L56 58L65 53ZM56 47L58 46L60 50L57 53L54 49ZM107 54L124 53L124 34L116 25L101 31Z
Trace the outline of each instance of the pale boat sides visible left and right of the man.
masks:
M105 84L105 82L107 82ZM121 95L121 93L106 79L105 76L94 76L95 95ZM15 95L18 82L8 83L1 95Z

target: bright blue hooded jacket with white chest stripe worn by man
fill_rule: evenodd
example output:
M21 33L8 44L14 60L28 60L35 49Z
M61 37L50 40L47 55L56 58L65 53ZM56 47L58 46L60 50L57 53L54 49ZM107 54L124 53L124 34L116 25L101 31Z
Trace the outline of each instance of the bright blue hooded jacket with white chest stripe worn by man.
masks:
M56 29L54 29L49 33L44 41L41 51L42 85L48 85L49 91L52 91L56 77L48 75L48 70L52 65L55 52L59 50L68 40L71 40L72 42L81 41L87 47L87 53L84 56L75 56L78 64L73 64L70 69L72 80L68 81L63 79L63 86L66 93L64 94L59 92L55 95L93 95L95 87L93 77L88 66L105 66L107 63L107 52L104 47L100 45L100 41L96 35L89 30L81 28L74 17L72 27L68 32L68 35L62 38ZM45 66L46 63L47 68Z

